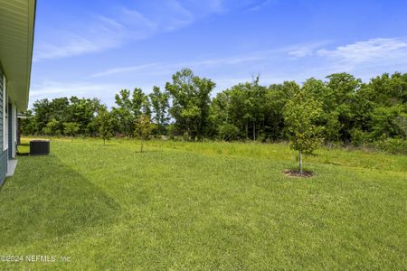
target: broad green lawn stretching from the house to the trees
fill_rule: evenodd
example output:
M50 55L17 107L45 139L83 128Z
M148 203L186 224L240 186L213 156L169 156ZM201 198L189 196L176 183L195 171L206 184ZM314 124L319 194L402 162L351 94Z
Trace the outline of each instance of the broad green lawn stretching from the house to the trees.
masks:
M27 151L22 148L23 152ZM407 156L288 145L52 141L0 190L0 269L406 269Z

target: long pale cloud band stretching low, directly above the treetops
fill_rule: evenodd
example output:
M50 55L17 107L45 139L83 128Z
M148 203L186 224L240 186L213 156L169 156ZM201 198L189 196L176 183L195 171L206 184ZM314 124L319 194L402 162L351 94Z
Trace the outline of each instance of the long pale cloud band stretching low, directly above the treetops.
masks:
M329 50L327 43L302 43L219 58L114 67L84 78L85 82L43 81L33 85L31 99L77 95L98 97L102 102L113 105L114 95L119 89L137 86L148 92L153 85L164 86L171 79L171 74L184 67L213 79L217 83L217 91L250 81L252 72L260 73L262 84L270 84L283 80L301 83L310 77L324 79L335 72L350 72L357 78L368 80L383 72L407 70L407 43L403 39L373 39L343 44ZM131 72L131 76L128 76Z

